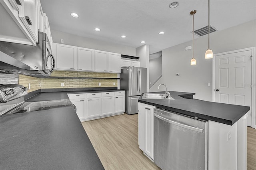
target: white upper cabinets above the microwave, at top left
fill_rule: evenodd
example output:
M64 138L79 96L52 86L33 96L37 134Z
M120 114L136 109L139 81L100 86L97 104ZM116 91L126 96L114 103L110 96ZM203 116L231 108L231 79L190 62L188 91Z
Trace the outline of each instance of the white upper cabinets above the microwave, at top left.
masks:
M40 0L0 0L0 30L0 41L36 45L40 31L47 34L52 45Z

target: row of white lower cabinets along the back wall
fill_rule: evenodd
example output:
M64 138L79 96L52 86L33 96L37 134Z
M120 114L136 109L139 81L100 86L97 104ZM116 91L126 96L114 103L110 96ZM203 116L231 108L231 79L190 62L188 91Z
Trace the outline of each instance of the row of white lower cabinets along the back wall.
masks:
M124 113L124 91L68 95L81 122Z

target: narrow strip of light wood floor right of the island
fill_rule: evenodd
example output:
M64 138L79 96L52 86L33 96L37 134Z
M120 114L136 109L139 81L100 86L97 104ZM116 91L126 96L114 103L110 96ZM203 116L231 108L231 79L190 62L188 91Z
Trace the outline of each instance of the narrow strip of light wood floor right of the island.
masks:
M247 127L247 170L256 170L256 129Z

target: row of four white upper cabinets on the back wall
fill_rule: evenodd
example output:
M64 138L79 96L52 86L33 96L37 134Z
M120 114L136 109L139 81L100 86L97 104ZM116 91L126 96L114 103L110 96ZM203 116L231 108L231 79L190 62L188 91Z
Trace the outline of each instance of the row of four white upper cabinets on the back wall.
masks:
M52 54L56 57L57 70L121 72L121 57L118 53L53 43Z

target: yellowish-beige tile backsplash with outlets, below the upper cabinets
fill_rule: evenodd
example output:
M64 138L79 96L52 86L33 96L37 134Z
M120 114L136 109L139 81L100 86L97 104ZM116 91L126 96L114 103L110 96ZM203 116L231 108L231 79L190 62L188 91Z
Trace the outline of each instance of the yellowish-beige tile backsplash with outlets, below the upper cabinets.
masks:
M68 77L96 77L96 78L117 78L117 73L96 73L82 71L53 71L51 77L37 78L27 75L19 76L19 84L28 87L30 90L38 89L58 89L58 88L85 88L85 87L117 87L117 79L70 79ZM55 78L63 77L63 78ZM41 87L40 87L41 83ZM64 86L61 86L64 83ZM99 86L99 83L101 85ZM115 85L113 85L115 83Z

